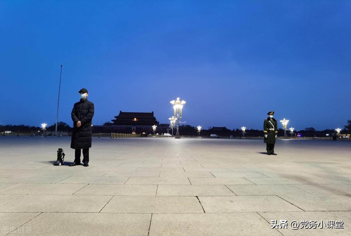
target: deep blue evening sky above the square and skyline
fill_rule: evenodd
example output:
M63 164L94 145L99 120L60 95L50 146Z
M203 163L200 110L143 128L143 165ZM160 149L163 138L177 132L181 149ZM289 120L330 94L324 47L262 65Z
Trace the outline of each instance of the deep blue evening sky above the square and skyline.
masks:
M120 110L262 129L351 119L350 1L0 0L0 124L51 125L86 88L93 124ZM280 127L280 126L279 126Z

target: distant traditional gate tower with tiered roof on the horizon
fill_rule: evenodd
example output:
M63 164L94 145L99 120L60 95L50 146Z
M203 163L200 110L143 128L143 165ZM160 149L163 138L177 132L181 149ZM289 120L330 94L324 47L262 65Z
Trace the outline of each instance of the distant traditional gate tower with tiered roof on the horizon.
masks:
M155 133L167 133L169 124L160 124L152 112L122 112L102 126L93 126L93 133L153 133L152 126L156 125Z

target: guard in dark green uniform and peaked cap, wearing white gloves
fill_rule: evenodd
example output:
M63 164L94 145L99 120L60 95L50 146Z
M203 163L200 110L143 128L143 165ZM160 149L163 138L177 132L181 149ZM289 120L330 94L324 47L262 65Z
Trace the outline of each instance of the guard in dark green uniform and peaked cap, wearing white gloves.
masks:
M274 111L267 113L268 118L263 122L264 142L267 144L267 154L277 155L274 153L274 144L276 143L278 128L277 120L273 118Z

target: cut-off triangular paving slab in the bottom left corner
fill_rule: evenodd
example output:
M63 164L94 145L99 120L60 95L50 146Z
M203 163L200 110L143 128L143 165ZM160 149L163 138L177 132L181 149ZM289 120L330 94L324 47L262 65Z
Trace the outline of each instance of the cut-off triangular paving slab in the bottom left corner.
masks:
M32 220L40 213L14 213L14 212L0 212L0 236L5 236L14 229L17 229L22 224ZM24 233L30 234L31 229L28 227L21 227L19 230L24 230ZM17 231L19 231L17 230Z

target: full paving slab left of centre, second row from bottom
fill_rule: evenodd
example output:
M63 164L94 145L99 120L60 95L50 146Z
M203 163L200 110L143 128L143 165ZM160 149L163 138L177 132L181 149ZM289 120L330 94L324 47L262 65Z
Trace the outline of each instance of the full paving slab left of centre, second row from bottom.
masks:
M101 212L203 213L197 197L114 196Z

